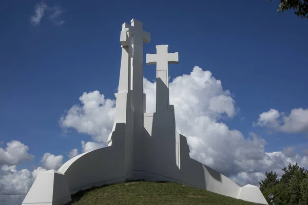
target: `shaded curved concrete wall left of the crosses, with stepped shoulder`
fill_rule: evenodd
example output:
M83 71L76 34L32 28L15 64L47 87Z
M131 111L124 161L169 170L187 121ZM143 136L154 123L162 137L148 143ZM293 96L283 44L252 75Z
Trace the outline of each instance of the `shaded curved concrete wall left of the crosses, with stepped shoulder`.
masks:
M125 124L117 124L112 133L112 146L75 156L59 169L68 180L71 194L127 177L125 136Z

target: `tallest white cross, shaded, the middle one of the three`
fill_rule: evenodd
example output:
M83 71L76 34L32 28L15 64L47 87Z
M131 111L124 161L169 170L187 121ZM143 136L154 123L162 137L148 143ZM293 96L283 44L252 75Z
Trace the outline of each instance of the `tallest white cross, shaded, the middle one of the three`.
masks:
M143 42L150 42L150 33L143 31L143 24L132 19L130 25L123 24L122 31L128 29L128 41L124 46L129 48L130 56L130 90L132 90L131 106L133 111L133 169L142 169L143 153L143 113L145 97L143 93ZM124 35L124 34L123 34ZM121 42L122 43L122 42ZM123 45L123 44L122 44Z

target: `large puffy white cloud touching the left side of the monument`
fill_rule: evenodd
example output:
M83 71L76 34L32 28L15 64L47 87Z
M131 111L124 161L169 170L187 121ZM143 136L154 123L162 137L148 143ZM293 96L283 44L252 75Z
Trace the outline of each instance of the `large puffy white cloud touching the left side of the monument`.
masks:
M79 100L82 106L72 106L61 117L60 126L74 128L79 133L91 135L94 141L107 144L113 126L115 101L105 99L99 91L83 93Z

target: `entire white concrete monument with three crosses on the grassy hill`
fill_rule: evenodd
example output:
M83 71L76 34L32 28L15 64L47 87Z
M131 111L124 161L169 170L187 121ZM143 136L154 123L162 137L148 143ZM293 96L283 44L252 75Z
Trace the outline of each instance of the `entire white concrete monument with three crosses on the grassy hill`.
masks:
M178 53L156 46L146 63L156 64L156 112L146 113L143 93L143 42L150 34L136 19L122 26L121 69L114 126L108 147L68 160L58 171L40 173L23 204L64 204L71 195L125 180L171 181L225 196L267 204L258 187L238 186L219 172L189 157L186 137L176 133L174 106L169 105L168 64Z

